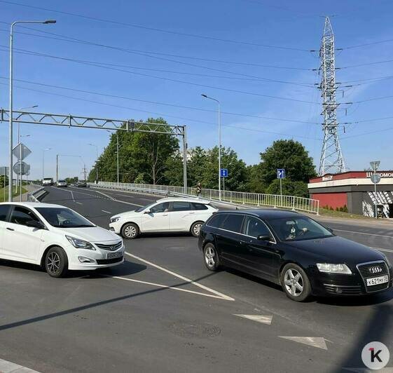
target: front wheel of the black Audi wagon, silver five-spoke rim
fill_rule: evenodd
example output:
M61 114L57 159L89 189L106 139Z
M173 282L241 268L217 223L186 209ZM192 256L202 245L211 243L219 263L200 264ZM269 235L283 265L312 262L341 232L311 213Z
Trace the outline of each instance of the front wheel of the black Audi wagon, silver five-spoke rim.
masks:
M294 263L289 263L282 269L281 285L285 294L293 301L305 301L311 294L311 285L305 271Z

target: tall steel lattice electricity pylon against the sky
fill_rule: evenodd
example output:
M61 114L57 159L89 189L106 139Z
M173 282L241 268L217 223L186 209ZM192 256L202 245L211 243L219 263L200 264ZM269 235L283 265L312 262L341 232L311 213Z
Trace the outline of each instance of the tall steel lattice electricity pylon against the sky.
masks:
M325 18L324 34L322 36L321 49L319 50L322 73L321 85L322 91L322 115L324 123L324 140L322 142L322 153L319 161L319 176L326 173L345 172L345 163L341 152L340 141L338 140L338 123L336 102L336 67L335 67L335 50L334 34L329 17Z

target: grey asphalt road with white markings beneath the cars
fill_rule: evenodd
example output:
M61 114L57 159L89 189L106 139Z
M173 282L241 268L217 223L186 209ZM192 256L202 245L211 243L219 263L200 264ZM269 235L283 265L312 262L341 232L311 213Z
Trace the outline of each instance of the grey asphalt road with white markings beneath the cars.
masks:
M156 199L48 191L44 202L104 227L111 215ZM389 225L324 224L393 261ZM126 241L123 266L63 279L1 262L0 358L39 372L364 372L356 368L369 341L393 355L392 291L296 303L266 281L207 271L196 243L188 235L144 236Z

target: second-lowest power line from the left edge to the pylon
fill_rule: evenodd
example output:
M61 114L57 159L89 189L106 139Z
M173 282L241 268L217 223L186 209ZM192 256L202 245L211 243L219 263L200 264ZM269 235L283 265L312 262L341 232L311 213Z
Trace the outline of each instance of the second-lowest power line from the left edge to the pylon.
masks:
M5 76L0 76L0 79L8 79L8 78L6 78ZM33 84L35 86L43 86L43 87L47 87L47 88L56 88L56 89L62 89L62 90L69 90L71 92L88 93L90 95L99 95L99 96L103 96L103 97L118 98L118 99L122 99L122 100L131 100L131 101L137 101L137 102L144 102L144 103L147 103L147 104L158 104L158 105L169 106L169 107L177 107L177 108L181 108L181 109L191 109L191 110L196 110L196 111L205 111L205 112L210 112L210 113L216 113L216 110L202 109L200 107L188 107L188 106L182 106L182 105L178 105L178 104L170 104L170 103L167 103L167 102L156 102L156 101L149 101L149 100L141 100L141 99L137 99L137 98L133 98L133 97L127 97L127 96L121 96L121 95L110 95L108 93L99 93L99 92L95 92L95 91L92 91L92 90L81 90L81 89L69 88L69 87L64 87L64 86L55 86L53 84L38 83L38 82L35 82L35 81L27 81L27 80L22 80L22 79L13 79L13 80L14 81L19 81L20 83ZM137 110L137 109L135 109L135 110ZM158 114L158 113L153 113L153 114ZM230 111L221 111L221 114L227 114L227 115L232 115L232 116L247 116L249 118L267 119L269 121L284 121L284 122L293 122L293 123L320 124L320 123L311 122L311 121L298 121L296 119L288 119L288 118L273 118L273 117L269 117L269 116L256 116L256 115L251 115L251 114L233 113L233 112L230 112ZM169 116L168 114L158 114L158 115ZM212 123L209 123L209 124L212 124Z

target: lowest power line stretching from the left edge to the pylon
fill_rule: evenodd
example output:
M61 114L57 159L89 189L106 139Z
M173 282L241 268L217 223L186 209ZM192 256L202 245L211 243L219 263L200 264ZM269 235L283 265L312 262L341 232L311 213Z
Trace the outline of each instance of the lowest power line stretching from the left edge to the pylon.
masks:
M7 83L0 83L0 85L2 86L8 86ZM44 93L47 95L54 95L54 96L58 96L58 97L65 97L65 98L69 98L71 100L78 100L78 101L84 101L84 102L92 102L95 104L100 104L100 105L106 105L106 106L110 106L110 107L118 107L120 109L127 109L127 110L135 110L135 111L142 111L142 112L146 112L149 114L157 114L157 115L163 115L163 116L170 116L172 118L178 118L181 120L185 120L185 121L194 121L197 123L205 123L205 124L211 124L213 126L216 126L216 123L212 123L212 122L206 122L206 121L200 121L200 120L195 120L195 119L191 119L191 118L182 118L179 116L172 116L172 115L167 115L167 114L163 114L163 113L156 113L154 111L145 111L145 110L141 110L141 109L134 109L134 108L130 108L130 107L123 107L120 105L116 105L116 104L108 104L106 102L99 102L99 101L94 101L94 100L86 100L86 99L82 99L82 98L78 98L78 97L72 97L72 96L67 96L67 95L61 95L58 93L51 93L51 92L47 92L47 91L43 91L43 90L36 90L36 89L32 89L32 88L26 88L26 87L20 87L20 86L14 86L14 88L18 88L18 89L23 89L23 90L30 90L32 92L37 92L37 93ZM228 127L228 128L235 128L238 130L249 130L249 131L253 131L253 132L258 132L258 133L270 133L273 135L283 135L283 136L290 136L290 137L299 137L299 138L303 138L303 139L308 139L308 140L321 140L318 138L314 138L314 137L305 137L305 136L301 136L301 135L291 135L288 133L278 133L278 132L273 132L273 131L266 131L266 130L258 130L256 128L247 128L247 127L239 127L239 126L231 126L231 125L223 125L221 124L221 126L223 127Z

